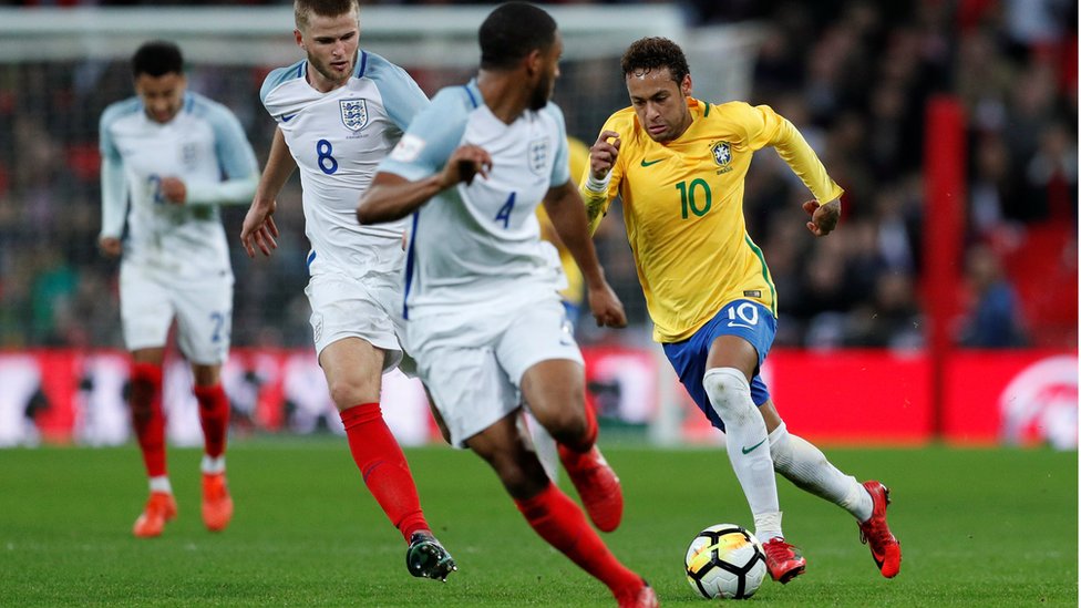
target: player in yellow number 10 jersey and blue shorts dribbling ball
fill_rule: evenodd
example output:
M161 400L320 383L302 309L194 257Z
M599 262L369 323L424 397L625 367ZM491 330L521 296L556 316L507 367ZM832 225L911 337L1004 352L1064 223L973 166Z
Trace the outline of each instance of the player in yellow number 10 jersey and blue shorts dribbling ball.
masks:
M859 484L789 433L759 375L776 331L776 296L744 227L751 155L773 146L814 194L803 208L815 236L836 227L843 190L770 107L691 97L687 59L673 42L638 40L621 68L631 106L605 123L580 192L594 229L611 199L622 198L653 339L702 413L727 434L770 576L787 583L806 567L781 530L774 470L852 513L882 575L896 576L900 544L886 525L889 491L876 481Z

